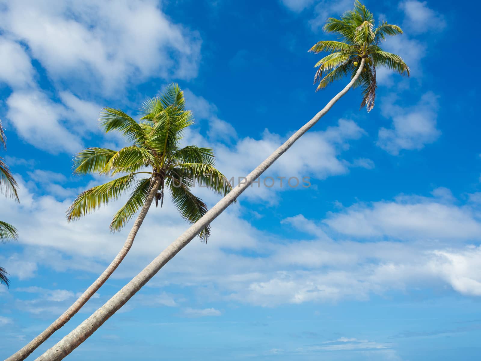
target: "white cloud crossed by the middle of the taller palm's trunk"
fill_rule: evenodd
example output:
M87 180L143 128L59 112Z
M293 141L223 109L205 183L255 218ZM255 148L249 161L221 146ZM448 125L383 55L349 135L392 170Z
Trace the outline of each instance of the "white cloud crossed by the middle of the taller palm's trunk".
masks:
M354 121L341 119L336 126L330 126L324 131L309 131L304 134L302 141L292 145L289 152L282 155L267 171L265 177L273 177L276 181L273 188L253 186L252 192L246 193L250 199L274 201L270 190L287 190L287 180L290 177L299 179L302 188L303 177L325 179L329 176L345 174L349 162L341 159L341 154L349 149L349 141L357 140L365 135L365 131ZM287 137L269 132L265 129L260 139L246 137L240 139L235 147L217 144L218 168L228 177L245 176L257 167L267 156L274 152ZM308 150L308 151L307 151ZM283 186L277 177L286 177ZM237 181L236 181L237 182ZM262 183L263 181L261 181ZM268 185L271 183L267 182ZM295 185L295 182L293 183Z

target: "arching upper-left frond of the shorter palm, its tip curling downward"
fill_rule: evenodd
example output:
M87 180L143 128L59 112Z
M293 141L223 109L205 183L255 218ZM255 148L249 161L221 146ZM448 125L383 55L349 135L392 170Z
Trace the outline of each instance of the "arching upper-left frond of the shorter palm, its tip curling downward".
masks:
M121 110L105 107L100 116L100 127L108 133L117 130L122 133L129 142L141 145L146 141L145 134L133 118Z

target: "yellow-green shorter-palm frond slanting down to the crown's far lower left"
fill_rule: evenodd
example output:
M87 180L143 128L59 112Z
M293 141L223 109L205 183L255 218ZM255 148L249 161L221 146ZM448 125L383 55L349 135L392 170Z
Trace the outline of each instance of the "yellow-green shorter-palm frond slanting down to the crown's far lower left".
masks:
M100 206L118 199L127 192L134 181L135 175L128 174L80 193L68 208L67 219L69 221L79 219Z

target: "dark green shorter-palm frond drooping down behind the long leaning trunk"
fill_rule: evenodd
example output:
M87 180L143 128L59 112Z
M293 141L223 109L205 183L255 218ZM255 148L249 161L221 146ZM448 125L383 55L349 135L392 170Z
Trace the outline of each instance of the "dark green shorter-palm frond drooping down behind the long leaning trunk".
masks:
M174 182L170 182L169 185L172 202L176 206L180 216L190 223L195 223L201 219L208 210L207 205L202 199L192 194L189 187L182 183L177 183L177 187ZM207 242L209 236L210 224L199 233L199 237L203 242Z

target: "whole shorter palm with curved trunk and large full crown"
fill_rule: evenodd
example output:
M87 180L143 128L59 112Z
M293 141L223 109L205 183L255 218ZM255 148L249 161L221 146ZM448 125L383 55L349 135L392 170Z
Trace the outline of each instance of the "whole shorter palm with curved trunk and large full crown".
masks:
M74 173L118 176L112 181L80 193L67 210L69 221L79 219L131 190L127 202L114 215L110 230L119 231L139 212L127 241L101 276L45 331L7 360L24 360L56 330L62 327L89 300L125 258L140 225L155 199L162 207L169 193L181 217L194 223L207 212L201 198L191 192L195 183L226 195L230 183L215 167L212 148L195 145L180 147L184 129L193 124L192 113L185 110L184 94L177 84L165 88L160 96L149 99L140 109L140 122L121 110L104 108L100 125L105 132L119 131L132 144L118 151L87 148L74 157ZM199 236L207 242L210 226Z

